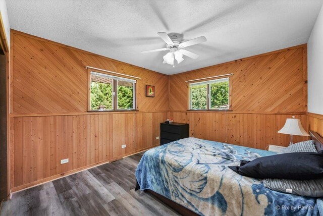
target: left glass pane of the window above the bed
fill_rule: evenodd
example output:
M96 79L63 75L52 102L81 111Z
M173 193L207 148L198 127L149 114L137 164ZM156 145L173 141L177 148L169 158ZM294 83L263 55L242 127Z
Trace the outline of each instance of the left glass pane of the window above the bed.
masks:
M206 109L206 86L207 85L199 85L191 87L191 109Z

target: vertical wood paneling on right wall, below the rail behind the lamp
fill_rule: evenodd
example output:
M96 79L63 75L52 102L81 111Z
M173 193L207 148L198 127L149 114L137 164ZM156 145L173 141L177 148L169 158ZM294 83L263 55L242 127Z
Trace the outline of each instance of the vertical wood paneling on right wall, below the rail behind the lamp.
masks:
M226 142L258 149L268 149L270 144L288 146L290 136L277 133L291 115L232 114L217 112L171 112L175 122L188 122L190 136ZM302 125L307 125L306 115L296 115ZM293 141L308 140L294 136Z

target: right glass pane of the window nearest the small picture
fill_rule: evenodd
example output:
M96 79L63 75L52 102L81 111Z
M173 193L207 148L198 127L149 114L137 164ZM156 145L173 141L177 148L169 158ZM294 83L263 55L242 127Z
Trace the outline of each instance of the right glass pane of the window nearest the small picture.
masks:
M118 81L118 109L134 109L132 82Z

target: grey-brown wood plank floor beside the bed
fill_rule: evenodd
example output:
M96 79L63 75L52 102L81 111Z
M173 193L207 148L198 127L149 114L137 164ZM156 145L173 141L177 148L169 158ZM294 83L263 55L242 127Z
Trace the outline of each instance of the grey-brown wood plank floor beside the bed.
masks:
M3 215L178 215L152 195L134 191L143 153L14 193Z

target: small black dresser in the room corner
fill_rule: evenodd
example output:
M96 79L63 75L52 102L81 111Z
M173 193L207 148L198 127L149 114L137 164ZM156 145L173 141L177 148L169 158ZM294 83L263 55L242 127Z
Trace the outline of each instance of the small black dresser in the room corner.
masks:
M160 123L160 145L190 136L190 125L186 123Z

